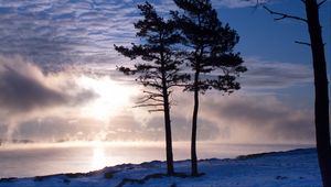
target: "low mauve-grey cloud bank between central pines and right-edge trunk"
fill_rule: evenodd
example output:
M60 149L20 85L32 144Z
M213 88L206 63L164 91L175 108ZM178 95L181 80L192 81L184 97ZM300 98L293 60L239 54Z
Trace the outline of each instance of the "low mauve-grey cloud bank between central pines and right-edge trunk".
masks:
M229 142L312 143L313 112L276 97L212 97L202 100L201 118L228 130ZM221 139L222 140L222 139Z

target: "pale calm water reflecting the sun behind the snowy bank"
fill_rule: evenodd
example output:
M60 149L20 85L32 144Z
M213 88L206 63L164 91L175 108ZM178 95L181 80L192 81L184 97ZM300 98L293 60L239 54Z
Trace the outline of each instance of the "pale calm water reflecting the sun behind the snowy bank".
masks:
M244 145L203 142L197 144L199 158L232 158L238 155L287 151L312 145ZM173 145L174 160L190 157L190 144ZM0 178L32 177L58 173L81 173L122 163L164 161L160 143L57 143L0 146Z

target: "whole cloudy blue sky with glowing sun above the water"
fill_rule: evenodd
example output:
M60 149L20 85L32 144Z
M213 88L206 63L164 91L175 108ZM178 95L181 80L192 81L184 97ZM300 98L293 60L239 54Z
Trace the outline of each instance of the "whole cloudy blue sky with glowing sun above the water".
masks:
M134 108L142 87L116 72L130 65L116 45L139 43L141 0L0 0L0 139L163 141L162 113ZM150 1L167 15L171 0ZM241 36L248 72L231 96L201 97L197 139L220 143L313 143L313 75L307 26L254 3L212 0ZM305 18L299 0L270 9ZM320 9L330 66L331 2ZM174 141L191 134L192 95L174 90Z

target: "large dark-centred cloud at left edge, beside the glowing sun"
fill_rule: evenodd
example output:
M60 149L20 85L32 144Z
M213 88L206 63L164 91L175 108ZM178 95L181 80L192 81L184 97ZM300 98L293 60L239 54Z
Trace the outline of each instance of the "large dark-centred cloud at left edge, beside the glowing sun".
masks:
M21 128L41 124L42 119L77 117L77 108L97 97L93 90L81 87L70 72L44 73L20 56L0 55L0 129L3 130L0 139L6 140L29 136L19 133L25 132ZM44 135L35 139L39 136Z

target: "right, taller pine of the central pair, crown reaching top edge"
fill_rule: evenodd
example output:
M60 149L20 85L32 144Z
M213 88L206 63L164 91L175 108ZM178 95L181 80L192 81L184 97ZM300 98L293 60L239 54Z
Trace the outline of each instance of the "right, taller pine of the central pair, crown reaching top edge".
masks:
M174 0L180 8L172 12L173 18L185 38L183 47L185 59L193 80L185 89L194 92L192 117L191 164L192 176L199 175L196 158L196 123L199 112L199 94L216 89L231 94L239 89L236 77L246 72L239 53L233 48L239 36L228 24L223 25L212 8L210 0Z

